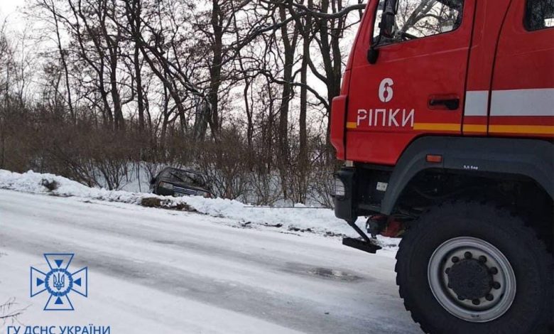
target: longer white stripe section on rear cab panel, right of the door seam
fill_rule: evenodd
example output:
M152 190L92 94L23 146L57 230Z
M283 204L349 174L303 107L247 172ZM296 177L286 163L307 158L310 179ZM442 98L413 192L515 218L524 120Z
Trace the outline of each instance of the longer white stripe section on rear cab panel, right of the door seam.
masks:
M554 88L494 90L491 116L554 116Z

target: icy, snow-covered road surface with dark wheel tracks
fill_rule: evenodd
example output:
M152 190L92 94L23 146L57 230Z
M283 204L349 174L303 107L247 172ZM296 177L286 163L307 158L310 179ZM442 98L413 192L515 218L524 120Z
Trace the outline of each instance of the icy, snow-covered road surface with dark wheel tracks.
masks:
M221 220L0 190L0 303L27 307L23 325L118 334L418 333L391 254ZM72 296L76 311L45 312L48 296L29 297L29 266L45 269L47 252L88 266L89 298Z

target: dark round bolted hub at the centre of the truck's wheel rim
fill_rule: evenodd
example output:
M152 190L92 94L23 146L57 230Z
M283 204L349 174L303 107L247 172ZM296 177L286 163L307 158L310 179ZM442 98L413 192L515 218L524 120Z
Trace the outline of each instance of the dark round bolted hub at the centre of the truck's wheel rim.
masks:
M463 259L448 271L448 287L460 299L484 298L491 291L493 277L489 268L476 259Z

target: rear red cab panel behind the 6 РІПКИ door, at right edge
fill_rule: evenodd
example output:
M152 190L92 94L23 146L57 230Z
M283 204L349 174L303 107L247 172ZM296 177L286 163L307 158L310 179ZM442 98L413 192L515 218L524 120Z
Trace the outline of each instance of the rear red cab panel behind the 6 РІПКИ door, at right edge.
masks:
M554 29L527 31L525 1L511 1L498 41L489 135L554 136Z

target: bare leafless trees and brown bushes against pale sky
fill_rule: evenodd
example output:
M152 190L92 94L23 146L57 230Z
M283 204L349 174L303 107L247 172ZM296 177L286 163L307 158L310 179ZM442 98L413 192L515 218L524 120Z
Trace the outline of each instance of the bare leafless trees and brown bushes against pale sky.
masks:
M31 28L0 26L0 168L117 189L188 166L226 198L330 205L361 2L29 0Z

